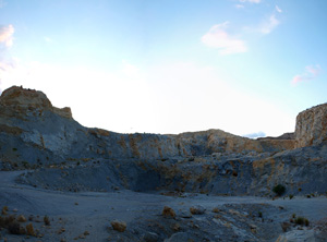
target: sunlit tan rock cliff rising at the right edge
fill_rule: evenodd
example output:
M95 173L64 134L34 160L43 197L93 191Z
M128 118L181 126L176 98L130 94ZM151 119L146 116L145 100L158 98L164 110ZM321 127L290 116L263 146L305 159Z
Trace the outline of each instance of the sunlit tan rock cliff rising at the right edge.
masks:
M298 148L327 142L327 104L298 114L295 140Z

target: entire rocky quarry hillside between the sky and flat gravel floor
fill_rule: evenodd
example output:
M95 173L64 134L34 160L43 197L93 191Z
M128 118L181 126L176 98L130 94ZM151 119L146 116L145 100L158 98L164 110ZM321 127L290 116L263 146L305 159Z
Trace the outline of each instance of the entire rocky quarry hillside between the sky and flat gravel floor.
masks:
M14 86L0 97L0 168L33 169L21 182L65 191L271 195L281 183L288 194L325 193L326 120L326 105L301 112L295 140L220 130L120 134L84 128L41 92Z

